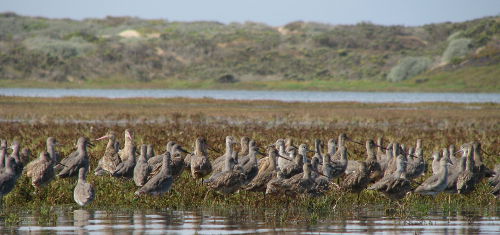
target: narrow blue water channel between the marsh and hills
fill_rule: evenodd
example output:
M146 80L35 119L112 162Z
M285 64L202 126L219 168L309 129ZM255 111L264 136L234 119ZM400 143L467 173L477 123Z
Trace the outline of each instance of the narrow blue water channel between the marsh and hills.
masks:
M145 89L41 89L0 88L0 95L29 97L187 97L229 100L279 100L299 102L368 102L416 103L459 102L500 103L499 93L407 93L407 92L342 92L342 91L248 91L248 90L145 90Z

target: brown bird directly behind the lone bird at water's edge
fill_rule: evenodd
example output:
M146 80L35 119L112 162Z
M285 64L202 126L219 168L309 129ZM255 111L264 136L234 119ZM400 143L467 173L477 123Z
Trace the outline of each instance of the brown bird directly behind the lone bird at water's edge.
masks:
M70 154L70 156L61 160L63 169L57 174L60 178L67 178L76 176L80 168L89 167L89 156L87 153L87 146L93 146L89 139L86 137L78 138L77 150Z

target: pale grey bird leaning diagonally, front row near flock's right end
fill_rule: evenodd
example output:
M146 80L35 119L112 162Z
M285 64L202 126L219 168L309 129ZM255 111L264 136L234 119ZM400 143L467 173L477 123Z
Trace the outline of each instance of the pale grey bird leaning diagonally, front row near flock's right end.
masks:
M446 151L448 151L448 149L446 149ZM439 160L439 170L436 174L430 176L422 184L420 184L420 186L415 189L415 193L435 196L436 194L443 192L448 186L448 164L451 164L450 159L442 157Z

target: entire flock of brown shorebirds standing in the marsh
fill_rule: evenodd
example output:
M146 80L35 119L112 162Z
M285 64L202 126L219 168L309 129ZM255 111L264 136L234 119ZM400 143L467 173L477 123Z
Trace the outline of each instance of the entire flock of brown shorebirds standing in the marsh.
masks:
M210 160L207 151L216 150L203 137L196 139L192 153L170 141L166 151L159 155L155 155L152 145L141 145L139 157L136 157L131 130L125 130L123 149L116 138L116 133L109 131L96 139L108 139L108 144L94 174L132 178L140 187L136 195L161 195L170 190L184 169L188 169L200 184L222 194L248 190L317 196L335 189L357 193L359 197L362 190L368 189L399 200L409 192L466 194L473 191L483 178L490 177L489 182L494 187L492 193L497 198L500 196L500 164L494 170L483 164L479 142L463 144L458 151L453 145L436 151L428 167L421 140L417 140L415 147L408 148L395 142L384 146L382 138L378 138L377 143L368 140L365 144L366 160L354 161L348 160L350 154L346 143L362 143L345 134L340 134L338 140L328 140L326 152L323 152L323 142L319 139L315 140L314 150L306 144L296 147L291 139L279 139L267 146L267 154L263 154L256 142L248 137L241 138L238 152L235 150L236 139L227 136L225 153L214 160ZM88 138L80 137L77 150L65 158L60 157L56 146L55 138L47 138L46 151L28 163L29 149L21 149L20 143L14 141L9 155L7 141L2 140L0 199L15 187L16 180L25 172L35 188L47 185L56 176L78 176L74 200L81 206L90 203L95 197L95 189L86 181L86 176L89 171L87 147L92 143ZM462 156L455 156L457 153ZM259 154L265 157L259 159ZM415 179L423 176L428 168L432 170L432 176L421 183L416 182ZM412 185L418 186L414 188Z

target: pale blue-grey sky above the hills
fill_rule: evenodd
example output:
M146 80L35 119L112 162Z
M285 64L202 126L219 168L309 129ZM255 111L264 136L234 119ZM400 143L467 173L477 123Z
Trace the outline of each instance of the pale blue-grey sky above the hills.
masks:
M293 21L417 26L500 14L500 0L0 0L0 12L49 18L135 16L169 21Z

